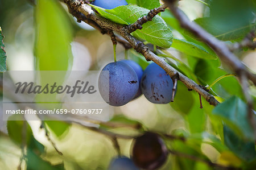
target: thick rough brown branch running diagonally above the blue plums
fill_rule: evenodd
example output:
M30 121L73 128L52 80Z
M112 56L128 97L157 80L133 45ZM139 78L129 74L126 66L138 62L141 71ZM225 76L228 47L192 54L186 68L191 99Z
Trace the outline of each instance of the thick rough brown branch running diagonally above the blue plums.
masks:
M129 34L129 29L126 25L114 23L106 18L103 18L97 13L94 13L90 6L81 3L81 1L79 0L65 0L64 2L68 5L69 9L84 14L87 19L93 20L93 22L97 23L98 26L101 27L101 29L113 30L117 32L117 34L122 36L131 45L131 47L133 47L137 52L141 53L146 58L147 61L154 61L156 64L162 67L168 74L170 74L171 77L174 77L176 74L179 74L179 80L183 82L183 84L185 84L188 89L193 89L197 93L201 94L201 96L203 96L210 103L210 105L218 105L219 102L212 96L212 94L209 94L198 84L196 84L195 81L189 79L188 77L178 72L176 69L172 68L171 65L164 61L164 59L162 59L159 56L156 56L155 53L150 51L150 49L148 49L148 47L146 47L146 45L144 45L143 42L131 36Z

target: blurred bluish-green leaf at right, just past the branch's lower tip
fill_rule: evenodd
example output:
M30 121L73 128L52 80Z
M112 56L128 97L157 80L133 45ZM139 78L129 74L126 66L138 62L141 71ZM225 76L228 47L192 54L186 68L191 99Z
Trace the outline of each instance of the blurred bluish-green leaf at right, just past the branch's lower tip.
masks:
M253 129L247 117L247 106L238 97L231 97L217 105L213 114L220 117L238 135L247 139L253 138Z

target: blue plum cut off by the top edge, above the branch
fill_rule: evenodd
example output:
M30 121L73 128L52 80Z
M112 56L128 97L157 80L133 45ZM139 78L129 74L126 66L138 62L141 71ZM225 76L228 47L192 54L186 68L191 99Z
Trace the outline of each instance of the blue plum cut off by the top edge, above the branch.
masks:
M92 4L109 10L118 6L128 5L125 0L95 0Z

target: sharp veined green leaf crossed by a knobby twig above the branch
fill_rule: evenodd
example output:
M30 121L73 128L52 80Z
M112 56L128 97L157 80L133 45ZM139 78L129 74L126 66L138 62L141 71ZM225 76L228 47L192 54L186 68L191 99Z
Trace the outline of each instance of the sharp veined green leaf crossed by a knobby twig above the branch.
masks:
M106 10L106 12L122 18L129 24L147 15L149 11L135 5L119 6L112 10ZM136 30L133 35L159 47L171 47L172 32L159 15L156 15L152 21L144 23L142 27L142 30Z

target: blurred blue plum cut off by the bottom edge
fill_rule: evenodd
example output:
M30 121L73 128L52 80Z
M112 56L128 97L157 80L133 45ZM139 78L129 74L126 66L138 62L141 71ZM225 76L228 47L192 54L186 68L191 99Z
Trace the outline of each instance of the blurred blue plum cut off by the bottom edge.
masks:
M109 170L139 170L131 159L125 156L113 159L109 165Z

